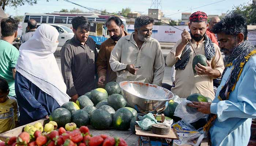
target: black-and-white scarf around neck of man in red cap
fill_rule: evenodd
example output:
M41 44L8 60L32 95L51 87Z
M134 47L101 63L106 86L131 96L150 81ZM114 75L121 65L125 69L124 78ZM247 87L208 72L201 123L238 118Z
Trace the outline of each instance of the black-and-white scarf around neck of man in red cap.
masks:
M206 55L207 60L210 61L216 53L215 48L214 48L214 45L213 45L211 39L208 38L207 35L204 35L204 40L205 40L204 54ZM183 51L181 53L180 60L178 60L175 64L176 70L177 69L184 70L185 67L187 66L188 61L191 58L191 54L192 54L192 50L190 47L191 47L191 45L189 43L187 43L187 45L185 46L185 48L183 49Z

